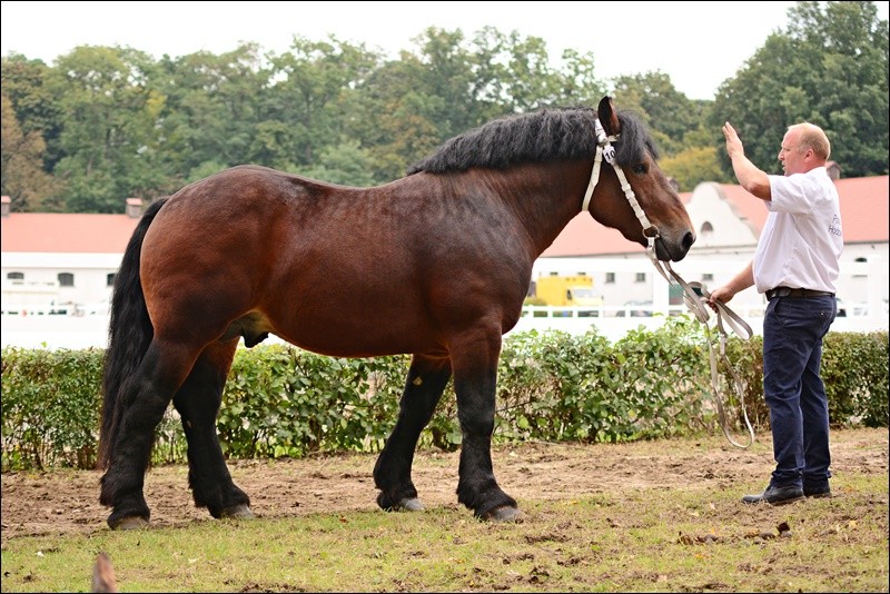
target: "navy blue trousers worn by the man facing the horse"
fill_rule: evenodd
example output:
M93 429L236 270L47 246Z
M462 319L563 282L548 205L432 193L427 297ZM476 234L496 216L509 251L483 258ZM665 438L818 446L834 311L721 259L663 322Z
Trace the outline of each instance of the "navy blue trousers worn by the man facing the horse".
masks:
M828 485L831 477L822 338L838 315L833 296L775 297L763 319L763 395L770 408L779 487Z

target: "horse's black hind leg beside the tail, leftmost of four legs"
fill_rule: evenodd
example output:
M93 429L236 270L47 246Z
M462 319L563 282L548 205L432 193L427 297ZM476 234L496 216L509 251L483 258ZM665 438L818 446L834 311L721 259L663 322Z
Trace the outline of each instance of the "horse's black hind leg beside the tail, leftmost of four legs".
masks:
M111 528L142 526L150 518L142 488L155 428L188 374L191 357L180 345L164 344L156 338L139 367L121 386L120 432L99 495L102 505L112 507L108 516Z

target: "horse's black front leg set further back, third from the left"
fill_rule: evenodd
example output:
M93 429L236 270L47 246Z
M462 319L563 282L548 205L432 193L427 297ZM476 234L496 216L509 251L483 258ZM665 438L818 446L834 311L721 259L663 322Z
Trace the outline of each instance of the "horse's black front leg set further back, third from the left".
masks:
M377 504L384 509L423 508L411 479L414 449L421 432L433 418L451 375L447 359L422 355L415 355L412 359L399 403L398 420L374 466L374 484L380 489Z

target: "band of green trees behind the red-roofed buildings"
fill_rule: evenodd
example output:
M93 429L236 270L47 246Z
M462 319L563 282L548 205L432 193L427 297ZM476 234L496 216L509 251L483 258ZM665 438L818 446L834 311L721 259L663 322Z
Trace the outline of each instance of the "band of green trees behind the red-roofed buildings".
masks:
M543 39L516 31L431 27L414 44L396 59L336 36L295 37L281 53L80 46L51 66L12 53L0 68L2 194L13 211L120 212L126 197L241 164L373 186L497 117L603 95L647 122L683 191L734 180L725 120L764 168L807 120L832 139L844 177L888 172L888 21L876 2L797 2L713 100L689 99L660 71L602 80L593 53L568 49L554 66Z

